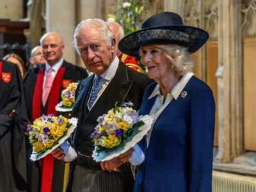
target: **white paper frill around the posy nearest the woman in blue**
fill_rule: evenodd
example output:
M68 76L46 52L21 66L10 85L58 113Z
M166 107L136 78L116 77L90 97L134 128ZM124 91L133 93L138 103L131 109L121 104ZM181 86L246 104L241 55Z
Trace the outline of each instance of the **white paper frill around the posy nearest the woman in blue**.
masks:
M142 120L145 125L139 127L138 129L135 129L132 133L132 136L127 138L126 141L124 141L124 145L122 147L117 147L115 149L111 149L108 152L99 152L97 153L97 146L95 146L95 150L93 150L93 160L99 162L99 161L109 161L110 159L113 159L115 157L120 156L120 154L124 154L129 150L130 148L134 147L136 143L140 142L142 138L147 134L147 132L151 129L151 126L153 124L153 118L151 116L145 115L140 117L140 120Z

